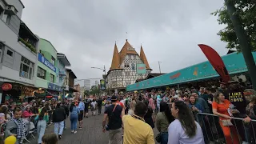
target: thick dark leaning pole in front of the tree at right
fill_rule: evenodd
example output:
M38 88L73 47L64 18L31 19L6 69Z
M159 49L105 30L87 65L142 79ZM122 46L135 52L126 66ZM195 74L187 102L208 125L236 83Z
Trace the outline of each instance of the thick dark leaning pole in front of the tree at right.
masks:
M240 44L242 55L245 58L248 73L250 74L250 79L253 84L254 90L256 90L256 66L254 62L253 54L251 54L252 46L248 41L244 28L242 27L242 22L240 21L238 14L236 13L234 7L234 0L225 0L226 9L230 15L230 19L234 26L234 31L238 37L238 42Z

